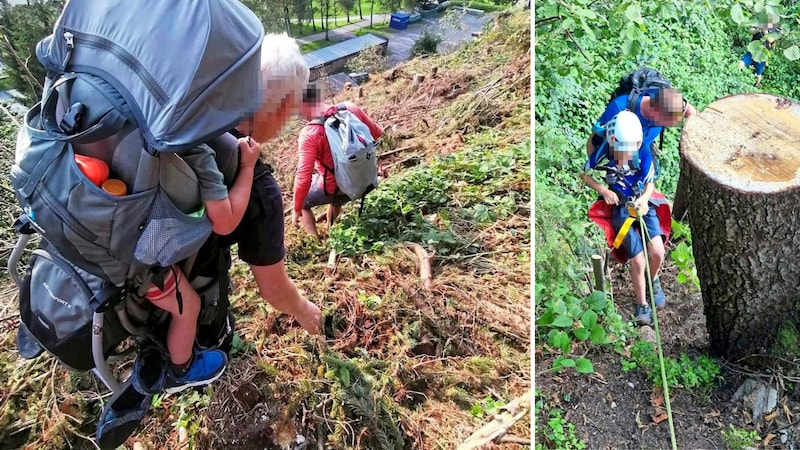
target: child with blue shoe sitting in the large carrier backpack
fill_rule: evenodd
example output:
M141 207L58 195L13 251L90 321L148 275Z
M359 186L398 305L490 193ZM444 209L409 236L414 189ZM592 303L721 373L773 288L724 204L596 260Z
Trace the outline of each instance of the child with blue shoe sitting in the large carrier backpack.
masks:
M212 230L220 235L229 234L236 228L250 200L259 145L250 138L241 138L239 151L239 172L230 190L217 168L211 147L203 144L181 155L197 175L200 197ZM164 391L175 393L211 383L225 371L228 358L221 350L194 349L200 297L177 265L168 268L163 284L158 284L160 286L153 284L148 289L146 297L171 315L167 330L170 368L167 370Z

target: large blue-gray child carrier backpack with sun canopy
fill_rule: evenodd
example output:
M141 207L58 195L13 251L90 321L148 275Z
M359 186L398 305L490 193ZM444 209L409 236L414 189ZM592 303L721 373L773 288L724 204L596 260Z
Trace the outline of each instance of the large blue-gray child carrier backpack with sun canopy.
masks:
M219 139L260 106L263 37L258 18L230 0L70 0L37 46L48 76L19 130L11 180L25 221L56 256L31 265L20 310L62 361L70 358L58 349L77 351L69 331L91 321L85 305L71 302L98 311L113 296L141 294L143 274L190 257L211 234L197 178L180 154ZM226 148L215 148L217 159L233 163L218 165L235 170L237 149ZM89 181L76 154L103 160L127 195ZM68 266L80 288L66 286ZM37 285L42 279L50 292ZM55 289L59 279L65 286ZM72 316L59 316L63 310Z

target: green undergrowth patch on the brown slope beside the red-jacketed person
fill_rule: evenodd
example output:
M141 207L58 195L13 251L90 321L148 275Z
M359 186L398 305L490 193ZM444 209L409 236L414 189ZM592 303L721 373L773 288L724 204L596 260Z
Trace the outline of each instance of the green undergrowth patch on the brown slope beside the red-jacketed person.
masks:
M381 183L365 197L362 215L346 214L331 228L330 244L344 255L407 241L442 256L477 253L477 230L530 201L529 165L530 142L468 146L437 158Z

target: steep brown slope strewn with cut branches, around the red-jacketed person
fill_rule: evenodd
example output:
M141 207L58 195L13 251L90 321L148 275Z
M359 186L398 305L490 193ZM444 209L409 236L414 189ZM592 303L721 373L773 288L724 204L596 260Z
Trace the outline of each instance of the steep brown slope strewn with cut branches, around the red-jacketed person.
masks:
M386 177L360 218L358 202L345 208L324 245L287 217L288 271L323 308L325 336L309 337L263 302L235 261L237 333L227 372L205 390L157 396L125 447L451 449L524 398L530 61L529 12L501 13L474 43L373 74L360 89L327 99L353 100L385 127ZM425 81L414 84L414 74ZM263 149L287 210L302 125L292 123ZM17 213L7 178L14 128L4 119L3 264ZM428 282L412 244L429 256ZM0 448L93 448L108 391L49 356L16 355L17 297L4 281ZM526 414L499 447L521 448L529 424Z

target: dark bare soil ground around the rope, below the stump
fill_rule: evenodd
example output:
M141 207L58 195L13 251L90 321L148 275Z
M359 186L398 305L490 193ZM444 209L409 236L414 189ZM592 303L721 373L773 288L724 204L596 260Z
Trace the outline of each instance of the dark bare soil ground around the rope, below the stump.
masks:
M619 265L612 270L614 300L625 316L633 315L633 293L628 287L630 278ZM660 278L667 294L667 306L658 311L658 323L664 357L678 358L680 354L708 355L708 333L705 329L703 301L699 292L690 291L676 281L676 268L667 265ZM575 352L580 353L580 351ZM594 365L593 375L577 372L553 373L553 357L537 352L536 389L551 407L565 411L567 420L575 424L577 435L590 449L668 449L671 448L667 420L654 423L657 416L653 406L653 384L639 370L624 372L623 356L613 351L591 350L587 356ZM722 431L733 424L739 429L756 430L762 437L759 448L789 449L800 446L800 424L794 422L800 414L800 399L790 384L791 377L775 371L760 372L759 378L778 390L777 414L753 421L741 401L732 399L736 390L754 374L747 369L720 361L721 381L709 394L698 390L670 389L675 436L679 449L729 448ZM781 388L781 385L784 388ZM569 401L565 401L566 398ZM546 412L540 412L537 423L547 422ZM770 420L767 420L770 419ZM541 427L541 425L539 425ZM765 438L773 434L766 446ZM781 440L785 439L785 443ZM547 444L537 431L536 441Z

